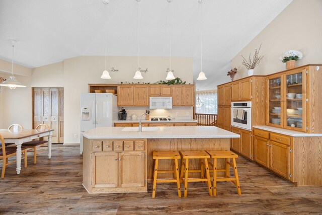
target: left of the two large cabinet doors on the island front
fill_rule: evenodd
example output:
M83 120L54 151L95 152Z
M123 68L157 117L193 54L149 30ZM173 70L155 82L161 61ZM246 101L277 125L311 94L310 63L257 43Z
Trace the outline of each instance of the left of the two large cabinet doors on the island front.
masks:
M92 187L118 187L118 153L95 153Z

